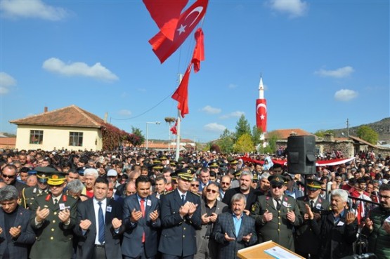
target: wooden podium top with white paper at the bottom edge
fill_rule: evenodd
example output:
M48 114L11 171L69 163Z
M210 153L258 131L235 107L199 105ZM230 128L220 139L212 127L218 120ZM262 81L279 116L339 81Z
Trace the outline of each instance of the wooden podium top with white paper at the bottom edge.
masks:
M266 241L256 246L242 248L237 255L241 259L305 259L274 241Z

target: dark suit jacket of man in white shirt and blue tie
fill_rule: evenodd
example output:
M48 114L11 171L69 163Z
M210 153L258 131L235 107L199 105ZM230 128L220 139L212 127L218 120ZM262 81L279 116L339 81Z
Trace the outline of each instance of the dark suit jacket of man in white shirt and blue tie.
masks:
M106 209L105 211L105 254L107 258L122 258L122 251L120 247L120 238L124 231L124 226L122 224L119 227L118 233L115 232L114 227L112 227L112 219L117 218L122 220L122 206L112 199L107 200L107 208L111 207L111 211ZM77 225L74 227L74 234L77 234L79 237L79 242L77 244L77 258L82 259L92 259L93 250L95 246L96 239L96 217L95 209L93 208L94 199L87 199L79 203L77 207ZM91 220L91 226L83 234L81 227L79 226L80 220Z

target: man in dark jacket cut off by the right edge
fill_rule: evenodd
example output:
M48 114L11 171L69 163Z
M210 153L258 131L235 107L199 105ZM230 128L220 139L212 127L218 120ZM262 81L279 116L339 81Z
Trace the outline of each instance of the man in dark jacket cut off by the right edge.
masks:
M368 236L368 252L378 259L390 258L390 185L379 187L380 206L370 211L362 233Z

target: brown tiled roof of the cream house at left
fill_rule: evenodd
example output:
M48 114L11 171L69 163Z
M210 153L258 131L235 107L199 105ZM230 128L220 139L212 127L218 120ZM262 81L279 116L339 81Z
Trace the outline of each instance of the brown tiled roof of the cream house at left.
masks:
M86 112L86 110L70 105L68 107L55 109L50 112L33 115L23 119L10 121L11 124L17 125L44 125L44 126L72 126L100 128L104 124L95 114Z

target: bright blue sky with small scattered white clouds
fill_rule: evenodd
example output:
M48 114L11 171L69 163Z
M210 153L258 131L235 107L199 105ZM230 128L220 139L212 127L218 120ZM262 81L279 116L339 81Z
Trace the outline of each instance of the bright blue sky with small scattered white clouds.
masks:
M188 6L193 4L190 1ZM260 74L268 131L368 124L389 117L389 1L209 1L205 60L190 75L182 137L200 142L254 126ZM1 1L1 128L77 105L130 132L168 139L165 117L193 53L191 34L162 65L142 1Z

